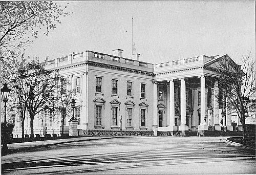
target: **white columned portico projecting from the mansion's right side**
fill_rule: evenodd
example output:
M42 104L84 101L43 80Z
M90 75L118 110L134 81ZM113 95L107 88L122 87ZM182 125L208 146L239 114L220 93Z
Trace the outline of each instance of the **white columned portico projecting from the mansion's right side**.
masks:
M223 93L219 92L216 74L207 69L213 59L215 57L203 55L156 64L153 100L157 105L154 107L166 106L166 114L162 115L159 107L155 109L155 134L157 131L171 135L178 132L185 136L193 131L203 136L205 130L221 130L223 118L225 126L231 124L229 116L223 116L224 109L219 106L218 96ZM163 120L161 126L160 119Z

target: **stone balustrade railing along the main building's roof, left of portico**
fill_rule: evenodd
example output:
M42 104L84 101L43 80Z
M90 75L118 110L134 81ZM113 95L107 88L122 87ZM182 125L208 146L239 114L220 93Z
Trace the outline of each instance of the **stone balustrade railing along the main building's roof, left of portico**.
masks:
M125 64L131 64L134 66L153 69L152 63L146 63L146 62L142 62L142 61L138 61L138 60L118 57L118 56L114 56L114 55L102 54L102 53L93 52L93 51L74 53L74 54L70 54L68 56L60 57L57 59L41 62L39 64L46 66L47 68L56 68L58 66L66 65L69 63L79 62L79 61L83 61L83 60L91 60L91 59L110 60L113 62L120 62L120 63L125 63Z

